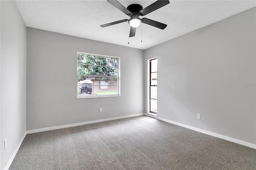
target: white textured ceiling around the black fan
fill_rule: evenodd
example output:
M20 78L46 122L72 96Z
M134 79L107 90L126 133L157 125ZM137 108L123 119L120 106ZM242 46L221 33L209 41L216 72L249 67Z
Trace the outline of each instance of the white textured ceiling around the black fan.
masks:
M143 8L155 0L118 0L124 7L140 4ZM16 1L27 27L103 41L138 49L148 49L190 31L222 20L256 6L256 1L170 0L170 4L140 18L167 24L158 29L142 24L129 39L128 22L109 27L105 23L130 19L107 0L21 0ZM142 28L142 42L141 42Z

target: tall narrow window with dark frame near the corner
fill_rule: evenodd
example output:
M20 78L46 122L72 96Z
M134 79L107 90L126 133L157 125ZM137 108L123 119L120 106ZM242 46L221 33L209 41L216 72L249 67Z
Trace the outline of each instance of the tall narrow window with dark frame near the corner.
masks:
M150 112L157 113L157 59L150 62Z

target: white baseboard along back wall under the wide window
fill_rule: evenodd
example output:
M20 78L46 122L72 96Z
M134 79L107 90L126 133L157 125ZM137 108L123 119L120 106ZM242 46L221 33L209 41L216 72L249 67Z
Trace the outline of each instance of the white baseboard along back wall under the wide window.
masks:
M81 123L73 123L73 124L68 124L68 125L46 127L46 128L42 128L42 129L34 129L34 130L27 131L27 134L44 132L44 131L52 131L52 130L56 130L56 129L64 129L64 128L68 128L68 127L76 127L76 126L87 125L87 124L91 124L91 123L98 123L98 122L102 122L102 121L123 119L123 118L135 117L135 116L141 116L141 115L144 115L144 113L138 113L138 114L134 114L134 115L126 115L126 116L120 116L120 117L112 117L112 118L108 118L108 119L85 121L85 122L81 122Z

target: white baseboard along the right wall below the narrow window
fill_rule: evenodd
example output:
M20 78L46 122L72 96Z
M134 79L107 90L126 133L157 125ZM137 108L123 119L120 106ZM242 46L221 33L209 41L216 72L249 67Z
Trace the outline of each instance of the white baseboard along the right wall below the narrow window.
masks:
M144 113L144 115L149 116L149 117L153 117L153 118L155 118L155 119L159 119L159 120L162 120L162 121L165 121L165 122L168 122L168 123L172 123L172 124L174 124L174 125L178 125L178 126L181 126L181 127L185 127L185 128L187 128L187 129L191 129L191 130L194 130L194 131L198 131L198 132L201 132L201 133L210 135L210 136L218 137L218 138L224 139L224 140L226 140L226 141L238 143L238 144L240 144L240 145L244 145L244 146L246 146L246 147L250 147L250 148L256 149L256 145L255 145L255 144L248 143L248 142L245 142L245 141L241 141L241 140L239 140L239 139L234 139L234 138L231 138L231 137L227 137L227 136L224 136L224 135L220 135L220 134L218 134L218 133L213 133L213 132L205 131L205 130L203 130L203 129L199 129L199 128L196 128L196 127L184 125L184 124L182 124L182 123L178 123L178 122L175 122L175 121L171 121L171 120L168 120L168 119L164 119L164 118L161 118L161 117L157 117L157 116L152 115L152 114Z

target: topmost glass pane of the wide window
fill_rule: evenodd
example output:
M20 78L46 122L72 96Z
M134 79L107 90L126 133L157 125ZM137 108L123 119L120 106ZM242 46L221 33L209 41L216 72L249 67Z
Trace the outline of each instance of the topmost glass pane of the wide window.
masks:
M118 59L111 57L100 57L95 55L77 54L78 64L91 64L91 65L101 65L101 66L118 66Z

